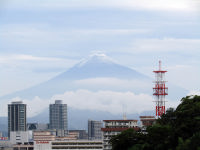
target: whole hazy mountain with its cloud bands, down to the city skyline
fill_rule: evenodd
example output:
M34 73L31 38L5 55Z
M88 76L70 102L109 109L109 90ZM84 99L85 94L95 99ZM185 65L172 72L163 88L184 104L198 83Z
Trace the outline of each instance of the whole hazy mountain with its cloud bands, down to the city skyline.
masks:
M69 107L69 127L80 129L86 128L88 119L120 119L123 111L128 117L136 118L142 112L152 112L152 81L104 54L95 54L48 81L5 95L0 100L5 105L10 100L23 100L29 107L29 121L48 122L49 104L61 99ZM187 94L183 88L170 83L168 86L170 104L177 100L179 103ZM0 113L5 112L1 105Z

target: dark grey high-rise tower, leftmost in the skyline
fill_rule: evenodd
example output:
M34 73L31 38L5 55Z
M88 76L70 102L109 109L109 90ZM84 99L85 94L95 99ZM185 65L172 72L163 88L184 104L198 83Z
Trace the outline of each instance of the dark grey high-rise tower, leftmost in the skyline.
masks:
M11 131L26 131L26 104L22 101L8 104L8 136Z

